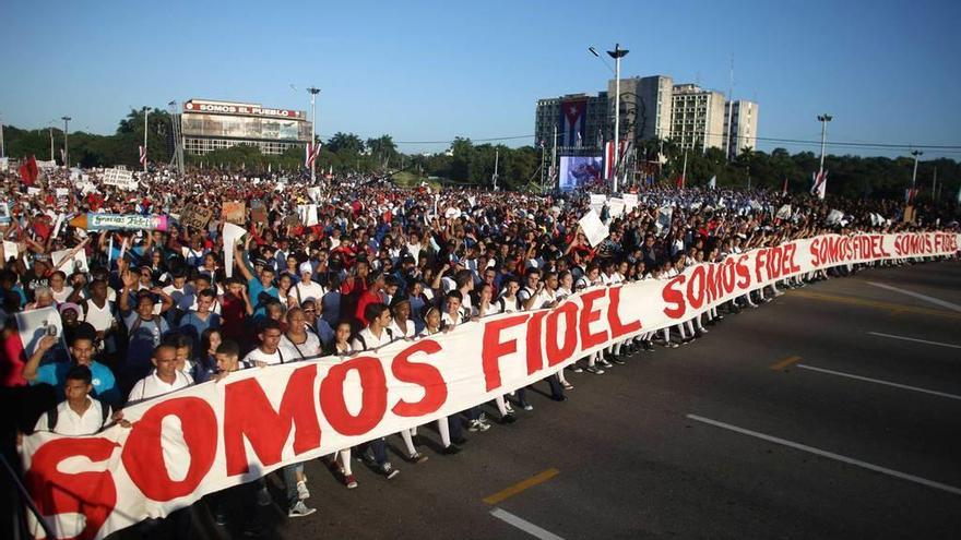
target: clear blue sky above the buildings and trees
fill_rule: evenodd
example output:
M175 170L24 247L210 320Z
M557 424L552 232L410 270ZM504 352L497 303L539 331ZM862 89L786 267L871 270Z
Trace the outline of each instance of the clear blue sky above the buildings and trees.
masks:
M71 130L110 133L130 107L190 97L309 109L293 83L322 88L324 137L527 135L538 97L606 87L586 48L619 41L624 76L722 92L733 55L761 136L819 139L829 112L838 141L961 145L957 0L8 0L0 16L0 118L20 127L69 115Z

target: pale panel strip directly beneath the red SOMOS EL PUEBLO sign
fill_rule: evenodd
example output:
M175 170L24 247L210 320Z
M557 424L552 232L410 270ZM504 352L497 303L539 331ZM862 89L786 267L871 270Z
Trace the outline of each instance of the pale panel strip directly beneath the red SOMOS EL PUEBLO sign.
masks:
M283 118L183 115L181 131L188 136L308 141L310 124Z

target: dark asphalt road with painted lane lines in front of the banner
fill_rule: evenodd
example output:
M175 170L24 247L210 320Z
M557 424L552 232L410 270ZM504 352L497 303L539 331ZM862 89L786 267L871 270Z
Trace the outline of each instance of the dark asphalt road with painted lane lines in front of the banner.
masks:
M390 481L358 464L348 491L308 464L319 512L270 508L264 537L958 538L959 284L951 262L791 291L693 344L569 373L569 401L535 395L456 456L395 458Z

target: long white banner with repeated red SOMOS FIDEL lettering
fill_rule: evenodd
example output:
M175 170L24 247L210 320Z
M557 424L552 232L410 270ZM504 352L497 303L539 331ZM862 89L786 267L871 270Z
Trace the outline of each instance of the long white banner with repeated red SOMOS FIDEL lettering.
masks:
M282 466L455 415L775 280L840 264L952 255L958 244L956 233L826 235L695 265L667 280L588 289L553 309L497 315L377 352L245 370L124 409L129 429L24 437L25 482L51 524L72 524L59 533L103 538Z

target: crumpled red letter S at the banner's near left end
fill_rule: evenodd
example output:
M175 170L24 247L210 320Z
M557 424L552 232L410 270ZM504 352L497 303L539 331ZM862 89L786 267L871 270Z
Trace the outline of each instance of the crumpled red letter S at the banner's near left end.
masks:
M93 464L110 458L117 443L106 439L56 439L31 456L24 484L44 516L80 514L83 530L74 537L93 539L117 504L117 487L109 470L78 473L61 472L57 467L72 457L85 457ZM163 463L161 465L163 467Z

